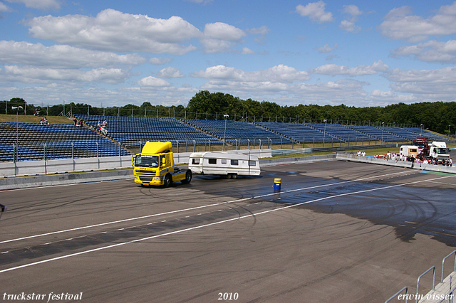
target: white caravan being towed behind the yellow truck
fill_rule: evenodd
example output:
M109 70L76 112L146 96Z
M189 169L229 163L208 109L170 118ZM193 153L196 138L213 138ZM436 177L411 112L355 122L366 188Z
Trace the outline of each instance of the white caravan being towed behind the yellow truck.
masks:
M190 154L188 168L193 174L226 176L227 179L260 174L257 156L224 151L194 152Z

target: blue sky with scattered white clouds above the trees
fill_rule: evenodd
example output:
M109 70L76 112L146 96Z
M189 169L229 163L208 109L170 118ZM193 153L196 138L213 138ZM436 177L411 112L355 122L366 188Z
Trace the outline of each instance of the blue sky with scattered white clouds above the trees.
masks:
M455 101L456 1L0 0L0 100Z

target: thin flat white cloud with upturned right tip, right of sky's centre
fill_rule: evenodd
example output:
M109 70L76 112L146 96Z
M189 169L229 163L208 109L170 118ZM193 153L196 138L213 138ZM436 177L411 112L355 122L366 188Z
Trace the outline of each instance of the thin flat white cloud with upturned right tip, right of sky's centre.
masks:
M348 75L348 76L360 76L360 75L376 75L381 72L386 72L388 65L383 64L381 60L373 63L372 65L358 65L356 68L349 68L344 65L326 64L321 65L318 68L313 68L309 73L319 75Z

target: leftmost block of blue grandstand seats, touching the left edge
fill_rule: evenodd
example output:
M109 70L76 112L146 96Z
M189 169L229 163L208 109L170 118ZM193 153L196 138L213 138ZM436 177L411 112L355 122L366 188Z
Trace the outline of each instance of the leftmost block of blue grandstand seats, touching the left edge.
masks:
M125 156L129 151L73 124L0 122L0 161Z

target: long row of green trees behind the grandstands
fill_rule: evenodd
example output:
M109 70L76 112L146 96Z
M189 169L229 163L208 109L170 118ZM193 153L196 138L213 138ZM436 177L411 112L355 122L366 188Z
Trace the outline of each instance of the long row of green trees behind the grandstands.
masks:
M15 113L11 106L24 107L21 114L33 115L37 107L26 104L21 98L1 101L0 109L6 114ZM1 110L0 110L1 111ZM327 122L380 125L415 125L440 133L454 133L456 130L456 102L421 102L406 105L399 103L385 107L348 107L346 105L297 105L280 106L274 102L242 100L222 92L197 92L187 107L182 105L166 107L151 105L124 105L123 107L92 107L88 104L70 103L41 108L41 115L63 115L68 112L88 115L175 117L197 119L244 119L263 122Z

